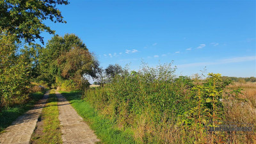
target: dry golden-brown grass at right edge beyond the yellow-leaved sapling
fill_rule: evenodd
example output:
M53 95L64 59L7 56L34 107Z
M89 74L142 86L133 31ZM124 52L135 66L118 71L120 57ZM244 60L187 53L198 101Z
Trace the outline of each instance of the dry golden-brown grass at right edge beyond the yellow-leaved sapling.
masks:
M241 93L225 95L223 104L228 122L256 124L256 83L234 83L227 88L227 92L241 89ZM229 139L232 143L256 143L255 134L237 135Z

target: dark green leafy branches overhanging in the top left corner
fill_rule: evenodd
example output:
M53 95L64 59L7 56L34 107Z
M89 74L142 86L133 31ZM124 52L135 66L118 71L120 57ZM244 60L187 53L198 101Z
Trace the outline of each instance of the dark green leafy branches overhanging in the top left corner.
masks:
M44 44L42 31L54 34L49 26L45 26L43 20L52 22L65 22L57 4L68 4L66 0L3 0L0 1L0 28L17 36L17 40L35 42L36 38Z

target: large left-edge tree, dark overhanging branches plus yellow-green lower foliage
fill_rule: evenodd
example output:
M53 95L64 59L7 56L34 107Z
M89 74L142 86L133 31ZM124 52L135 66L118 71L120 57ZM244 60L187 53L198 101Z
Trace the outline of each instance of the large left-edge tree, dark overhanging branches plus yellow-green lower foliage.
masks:
M57 4L66 0L1 0L0 1L0 111L3 106L24 102L29 83L38 75L39 38L42 31L54 33L44 20L65 22ZM21 42L29 44L20 51ZM33 44L33 45L32 45Z

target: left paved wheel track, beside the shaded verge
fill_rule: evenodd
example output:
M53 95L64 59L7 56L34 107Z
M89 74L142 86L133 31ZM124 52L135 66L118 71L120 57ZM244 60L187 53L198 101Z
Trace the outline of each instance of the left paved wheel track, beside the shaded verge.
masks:
M38 117L42 113L42 108L44 108L48 97L49 91L44 94L43 99L39 100L38 104L35 104L35 108L19 116L12 125L4 129L4 132L0 134L0 143L29 143Z

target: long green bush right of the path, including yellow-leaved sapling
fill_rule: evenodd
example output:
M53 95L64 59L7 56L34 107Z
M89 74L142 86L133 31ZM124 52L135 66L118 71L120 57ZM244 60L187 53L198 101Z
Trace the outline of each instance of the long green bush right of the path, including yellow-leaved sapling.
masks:
M220 99L225 83L220 74L195 83L175 76L170 64L127 71L104 87L86 90L84 99L120 129L132 128L143 143L207 141L204 125L223 111Z

